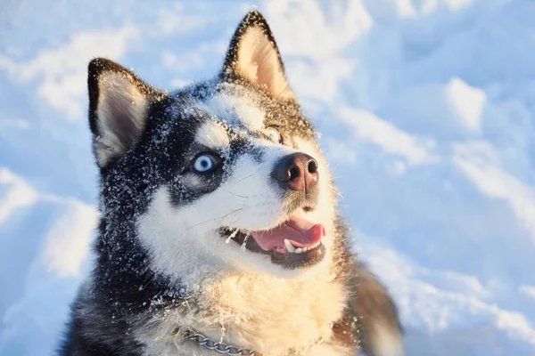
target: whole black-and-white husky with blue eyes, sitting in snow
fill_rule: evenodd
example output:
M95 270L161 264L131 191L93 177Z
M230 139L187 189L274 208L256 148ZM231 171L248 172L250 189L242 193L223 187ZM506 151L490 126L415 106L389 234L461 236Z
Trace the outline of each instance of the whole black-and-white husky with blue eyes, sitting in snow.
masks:
M259 12L212 80L167 93L95 59L88 86L102 219L62 354L403 352Z

